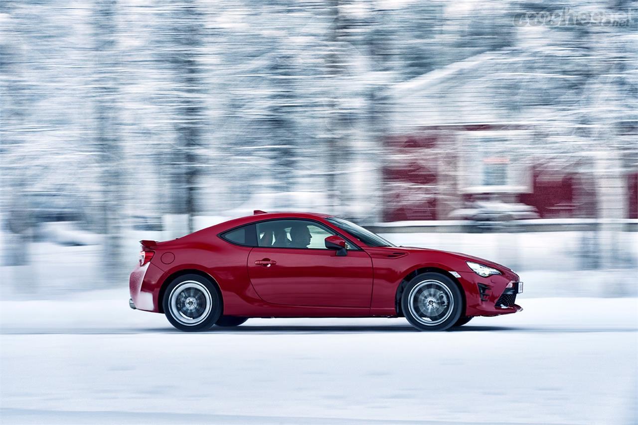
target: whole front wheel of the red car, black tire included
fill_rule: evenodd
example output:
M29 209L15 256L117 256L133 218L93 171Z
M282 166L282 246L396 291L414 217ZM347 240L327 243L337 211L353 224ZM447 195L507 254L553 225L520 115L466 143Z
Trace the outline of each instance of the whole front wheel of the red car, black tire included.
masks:
M421 273L403 289L401 308L420 331L445 331L461 317L463 295L452 279L440 273Z

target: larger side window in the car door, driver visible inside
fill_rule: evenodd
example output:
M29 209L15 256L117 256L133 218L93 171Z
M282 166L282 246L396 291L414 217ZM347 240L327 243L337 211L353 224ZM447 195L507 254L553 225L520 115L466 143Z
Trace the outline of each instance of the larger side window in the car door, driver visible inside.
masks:
M325 238L334 234L308 220L272 220L257 223L260 247L326 249Z

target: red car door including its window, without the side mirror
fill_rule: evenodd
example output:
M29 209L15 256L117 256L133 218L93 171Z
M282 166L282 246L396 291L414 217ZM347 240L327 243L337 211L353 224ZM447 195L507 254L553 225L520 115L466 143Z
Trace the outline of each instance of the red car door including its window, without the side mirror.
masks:
M305 233L303 229L308 229L309 240L308 234L299 236ZM256 230L259 246L248 255L248 274L264 301L295 306L370 306L372 260L366 252L350 245L346 256L337 256L336 250L324 244L334 231L312 220L269 220L257 223Z

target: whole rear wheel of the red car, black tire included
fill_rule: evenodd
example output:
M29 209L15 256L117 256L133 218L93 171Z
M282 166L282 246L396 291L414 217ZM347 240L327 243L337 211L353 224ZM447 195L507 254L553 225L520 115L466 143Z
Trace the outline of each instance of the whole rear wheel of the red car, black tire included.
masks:
M200 275L175 278L164 292L162 305L170 324L184 332L210 329L223 310L216 285Z

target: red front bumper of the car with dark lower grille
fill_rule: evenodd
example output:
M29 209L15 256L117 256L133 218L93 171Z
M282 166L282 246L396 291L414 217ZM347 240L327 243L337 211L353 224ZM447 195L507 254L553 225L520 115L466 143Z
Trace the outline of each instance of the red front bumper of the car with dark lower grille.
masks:
M520 312L516 296L523 283L514 273L480 277L474 272L459 273L459 282L466 294L465 315L496 316Z

